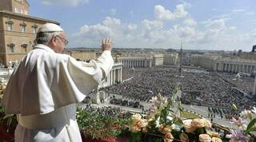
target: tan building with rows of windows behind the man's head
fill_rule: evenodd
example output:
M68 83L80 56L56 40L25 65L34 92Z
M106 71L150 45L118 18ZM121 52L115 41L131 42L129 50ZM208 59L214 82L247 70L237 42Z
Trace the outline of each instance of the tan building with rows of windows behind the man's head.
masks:
M52 20L29 15L26 0L1 0L0 2L0 63L8 66L17 62L33 49L38 27Z

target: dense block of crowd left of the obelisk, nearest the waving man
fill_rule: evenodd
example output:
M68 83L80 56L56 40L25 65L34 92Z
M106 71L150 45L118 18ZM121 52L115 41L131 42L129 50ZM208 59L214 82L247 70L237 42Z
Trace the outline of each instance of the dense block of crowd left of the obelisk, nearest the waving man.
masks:
M109 93L122 95L125 99L134 101L150 101L156 94L161 93L168 97L174 89L174 82L170 80L169 69L130 69L134 74L132 79L119 85L112 85L105 90ZM169 79L168 79L169 78Z

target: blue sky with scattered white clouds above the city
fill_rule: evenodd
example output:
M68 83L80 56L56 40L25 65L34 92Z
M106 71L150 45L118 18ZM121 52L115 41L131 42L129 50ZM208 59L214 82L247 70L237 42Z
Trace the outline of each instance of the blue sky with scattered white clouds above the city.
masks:
M69 47L224 49L256 45L255 0L28 0L30 15L61 23Z

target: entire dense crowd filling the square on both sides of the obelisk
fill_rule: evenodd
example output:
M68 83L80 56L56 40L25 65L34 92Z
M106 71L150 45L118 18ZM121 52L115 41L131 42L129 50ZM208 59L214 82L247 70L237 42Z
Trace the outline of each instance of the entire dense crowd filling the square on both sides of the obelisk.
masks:
M254 84L252 77L238 78L236 74L198 69L182 69L182 76L179 76L178 68L175 67L123 70L124 82L106 88L106 92L122 95L124 99L149 102L158 93L170 97L174 87L180 85L181 100L185 104L194 103L217 108L230 108L230 105L235 104L239 111L256 106L250 94L252 89L247 87ZM239 90L248 95L245 96Z

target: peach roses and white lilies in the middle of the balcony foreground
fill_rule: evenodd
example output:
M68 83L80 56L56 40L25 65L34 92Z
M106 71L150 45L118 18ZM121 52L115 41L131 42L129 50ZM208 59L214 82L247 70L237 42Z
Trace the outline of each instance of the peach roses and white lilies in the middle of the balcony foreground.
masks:
M129 131L130 141L200 141L221 142L217 132L210 131L210 120L205 118L185 119L180 115L182 107L180 102L175 102L179 89L176 87L167 101L166 97L158 94L152 98L153 105L147 116L134 114L131 117ZM177 107L174 111L171 108Z

